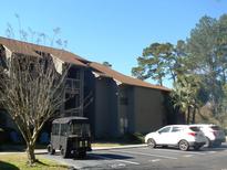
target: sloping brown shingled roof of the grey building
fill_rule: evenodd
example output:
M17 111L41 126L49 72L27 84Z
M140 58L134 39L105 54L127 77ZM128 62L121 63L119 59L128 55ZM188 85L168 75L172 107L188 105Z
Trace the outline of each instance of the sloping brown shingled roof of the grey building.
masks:
M94 71L94 73L97 74L99 76L113 78L120 84L141 86L141 87L146 87L146 88L166 91L166 92L171 91L169 88L166 88L164 86L153 85L153 84L143 82L141 79L126 76L103 64L87 61L79 55L75 55L64 50L53 49L53 47L43 46L43 45L37 45L37 44L12 40L12 39L6 39L1 36L0 36L0 45L4 45L12 53L25 54L25 55L31 55L31 56L40 56L39 53L37 52L50 53L59 57L63 62L72 63L79 66L91 67Z

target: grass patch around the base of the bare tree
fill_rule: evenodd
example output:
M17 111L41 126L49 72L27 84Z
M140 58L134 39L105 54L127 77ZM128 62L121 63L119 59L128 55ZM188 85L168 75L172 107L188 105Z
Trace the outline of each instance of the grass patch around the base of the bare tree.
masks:
M0 170L68 170L69 167L54 161L35 157L40 162L34 167L27 166L25 153L0 155Z

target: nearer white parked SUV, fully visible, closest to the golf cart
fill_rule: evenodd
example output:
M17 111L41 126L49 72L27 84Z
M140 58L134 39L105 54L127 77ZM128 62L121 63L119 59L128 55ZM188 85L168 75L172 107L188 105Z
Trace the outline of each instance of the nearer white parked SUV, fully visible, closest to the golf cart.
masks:
M193 147L198 150L206 144L206 137L199 128L190 125L169 125L145 136L148 147L177 146L180 150Z

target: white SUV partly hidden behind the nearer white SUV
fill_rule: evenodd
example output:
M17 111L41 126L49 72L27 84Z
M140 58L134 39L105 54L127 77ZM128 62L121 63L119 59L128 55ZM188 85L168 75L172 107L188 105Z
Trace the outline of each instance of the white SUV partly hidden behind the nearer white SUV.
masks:
M219 126L213 124L197 124L193 125L198 127L206 136L206 147L217 146L219 147L221 142L226 141L226 136L224 130Z

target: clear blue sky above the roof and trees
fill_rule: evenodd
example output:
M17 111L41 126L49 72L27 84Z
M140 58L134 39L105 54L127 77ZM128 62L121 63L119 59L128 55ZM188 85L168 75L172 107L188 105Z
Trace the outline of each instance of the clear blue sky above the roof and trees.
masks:
M2 0L0 11L0 36L8 24L14 39L20 28L50 36L60 28L65 50L131 75L144 47L186 40L202 17L227 13L227 0Z

